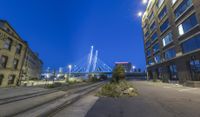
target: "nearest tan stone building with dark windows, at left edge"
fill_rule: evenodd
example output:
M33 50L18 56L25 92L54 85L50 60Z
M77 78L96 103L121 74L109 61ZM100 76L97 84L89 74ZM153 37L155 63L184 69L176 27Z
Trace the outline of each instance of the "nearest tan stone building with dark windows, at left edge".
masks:
M0 87L16 86L27 44L8 22L0 20Z

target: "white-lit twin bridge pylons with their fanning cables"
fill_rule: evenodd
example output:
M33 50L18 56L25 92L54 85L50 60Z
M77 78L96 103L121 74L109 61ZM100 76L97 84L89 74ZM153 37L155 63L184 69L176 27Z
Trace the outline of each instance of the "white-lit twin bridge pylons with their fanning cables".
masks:
M91 46L90 53L72 68L73 73L101 73L111 72L112 68L99 59L98 50L94 53L94 46Z

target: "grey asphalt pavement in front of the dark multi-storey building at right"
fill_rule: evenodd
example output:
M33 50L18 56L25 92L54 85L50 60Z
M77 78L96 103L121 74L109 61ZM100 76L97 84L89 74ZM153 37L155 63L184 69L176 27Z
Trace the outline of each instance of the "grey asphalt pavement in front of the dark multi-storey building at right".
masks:
M131 81L139 96L100 98L86 117L200 117L200 89Z

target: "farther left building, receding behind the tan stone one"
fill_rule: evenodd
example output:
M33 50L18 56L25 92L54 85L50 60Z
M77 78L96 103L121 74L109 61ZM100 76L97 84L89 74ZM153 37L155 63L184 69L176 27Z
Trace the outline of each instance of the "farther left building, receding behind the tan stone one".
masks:
M37 80L41 77L43 62L37 53L27 48L22 68L22 80Z

